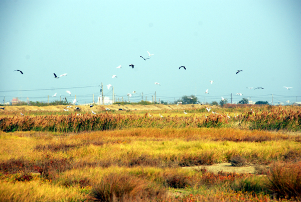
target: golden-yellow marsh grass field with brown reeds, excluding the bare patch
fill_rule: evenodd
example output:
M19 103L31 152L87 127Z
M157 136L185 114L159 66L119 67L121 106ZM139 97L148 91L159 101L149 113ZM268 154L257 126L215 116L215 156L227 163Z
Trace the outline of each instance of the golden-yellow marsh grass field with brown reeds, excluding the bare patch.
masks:
M301 200L301 108L185 112L2 111L0 200Z

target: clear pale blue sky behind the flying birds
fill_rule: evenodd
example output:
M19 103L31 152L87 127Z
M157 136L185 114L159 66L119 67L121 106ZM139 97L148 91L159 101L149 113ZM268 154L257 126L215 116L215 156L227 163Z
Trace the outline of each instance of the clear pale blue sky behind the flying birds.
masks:
M146 51L154 55L144 61ZM209 89L206 102L231 93L234 102L271 102L271 94L274 103L301 102L301 1L1 1L0 70L7 101L57 92L50 101L76 94L91 103L99 87L70 87L102 82L110 97L109 83L124 98L156 91L165 101L196 94L204 102Z

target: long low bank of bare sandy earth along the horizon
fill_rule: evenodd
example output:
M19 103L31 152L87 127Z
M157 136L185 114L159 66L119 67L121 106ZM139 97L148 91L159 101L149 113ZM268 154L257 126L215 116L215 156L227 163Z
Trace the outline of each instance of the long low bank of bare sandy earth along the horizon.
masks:
M152 111L152 110L191 110L191 109L202 109L206 107L210 108L219 108L218 106L208 106L208 105L100 105L100 106L93 106L90 108L90 106L73 106L71 105L71 108L68 108L70 111L74 111L75 107L80 108L81 112L90 112L90 110L93 110L94 112L104 111L105 108L108 108L110 110L143 110L143 111ZM5 106L4 107L6 111L12 112L12 111L46 111L46 112L59 112L63 111L63 109L67 109L67 106L59 105L59 106L46 106L46 107L36 107L36 106Z

